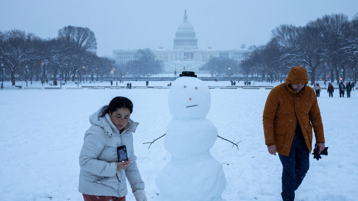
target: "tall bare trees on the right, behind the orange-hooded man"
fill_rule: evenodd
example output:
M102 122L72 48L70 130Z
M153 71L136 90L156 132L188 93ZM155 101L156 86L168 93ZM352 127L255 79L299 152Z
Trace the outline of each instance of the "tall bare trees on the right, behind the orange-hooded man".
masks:
M357 82L358 13L352 20L331 14L305 26L283 24L272 30L265 45L250 49L248 59L241 63L246 77L285 80L291 67L304 66L311 84L318 79Z

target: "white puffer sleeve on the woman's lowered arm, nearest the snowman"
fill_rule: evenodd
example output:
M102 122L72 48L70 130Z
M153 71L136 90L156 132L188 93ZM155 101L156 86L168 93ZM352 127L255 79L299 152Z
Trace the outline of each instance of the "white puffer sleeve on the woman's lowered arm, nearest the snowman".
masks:
M133 137L131 139L131 143L133 144ZM126 167L126 177L131 185L132 192L138 189L144 189L144 182L142 181L142 177L140 176L138 167L137 167L137 157L134 155L134 149L131 150L129 155L130 164Z

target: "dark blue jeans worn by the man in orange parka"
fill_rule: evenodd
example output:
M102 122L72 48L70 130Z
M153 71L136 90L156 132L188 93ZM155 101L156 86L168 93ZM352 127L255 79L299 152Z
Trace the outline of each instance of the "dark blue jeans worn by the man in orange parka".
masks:
M290 155L279 154L282 163L282 200L295 199L295 190L301 185L303 178L309 169L310 152L302 136L293 139Z

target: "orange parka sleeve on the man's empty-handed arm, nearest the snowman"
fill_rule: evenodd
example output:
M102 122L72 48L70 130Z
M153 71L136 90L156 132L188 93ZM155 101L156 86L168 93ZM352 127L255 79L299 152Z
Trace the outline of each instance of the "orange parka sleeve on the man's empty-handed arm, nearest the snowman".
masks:
M265 108L263 109L262 123L263 133L265 134L265 144L267 147L274 145L274 121L276 117L278 102L275 98L275 90L271 90L266 99Z

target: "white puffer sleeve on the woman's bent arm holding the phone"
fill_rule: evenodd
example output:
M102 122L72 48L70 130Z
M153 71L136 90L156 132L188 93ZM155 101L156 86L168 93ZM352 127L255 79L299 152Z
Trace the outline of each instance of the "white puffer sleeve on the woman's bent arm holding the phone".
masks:
M88 129L85 134L81 153L79 154L79 166L88 172L98 176L113 177L117 172L116 162L98 160L98 156L105 147L105 134Z

